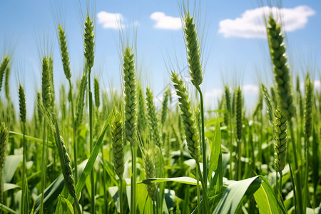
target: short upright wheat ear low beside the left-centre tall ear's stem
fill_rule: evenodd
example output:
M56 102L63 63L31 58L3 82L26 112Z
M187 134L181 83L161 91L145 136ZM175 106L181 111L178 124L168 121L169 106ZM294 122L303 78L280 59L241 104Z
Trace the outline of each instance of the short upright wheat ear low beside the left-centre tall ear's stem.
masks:
M124 160L123 160L123 121L121 114L117 111L111 125L111 139L113 146L113 160L115 173L119 179L123 179Z

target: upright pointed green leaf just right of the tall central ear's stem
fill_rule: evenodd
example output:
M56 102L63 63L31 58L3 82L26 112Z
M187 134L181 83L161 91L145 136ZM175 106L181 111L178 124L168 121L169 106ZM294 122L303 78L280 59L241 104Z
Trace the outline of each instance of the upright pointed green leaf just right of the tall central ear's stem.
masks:
M212 173L218 168L218 157L220 156L220 123L216 120L214 138L210 143L210 168L208 169L208 180L212 180Z

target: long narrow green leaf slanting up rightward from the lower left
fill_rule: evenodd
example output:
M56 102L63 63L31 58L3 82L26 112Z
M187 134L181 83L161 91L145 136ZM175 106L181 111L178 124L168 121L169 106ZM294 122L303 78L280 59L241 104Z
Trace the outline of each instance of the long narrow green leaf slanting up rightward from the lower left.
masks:
M76 185L76 195L77 198L80 198L81 190L83 189L83 186L86 184L86 179L88 175L91 173L91 170L93 169L93 165L96 162L96 158L98 156L99 151L101 150L101 143L103 143L103 137L105 136L106 132L109 128L109 122L111 121L113 113L110 113L107 121L105 123L105 126L103 127L103 131L101 131L101 135L98 138L98 141L95 144L95 147L93 148L93 151L91 152L91 156L88 159L88 162L83 169L83 173L81 174L81 178L78 180L78 183ZM68 200L73 203L73 198L71 195L68 196Z

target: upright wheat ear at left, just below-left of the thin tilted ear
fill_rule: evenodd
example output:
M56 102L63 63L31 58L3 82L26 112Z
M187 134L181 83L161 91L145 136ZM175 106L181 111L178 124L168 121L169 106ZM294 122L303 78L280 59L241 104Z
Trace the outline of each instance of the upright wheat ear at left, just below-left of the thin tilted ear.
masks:
M51 106L51 81L50 81L50 71L49 71L49 62L46 56L42 61L42 101L44 107L50 108Z

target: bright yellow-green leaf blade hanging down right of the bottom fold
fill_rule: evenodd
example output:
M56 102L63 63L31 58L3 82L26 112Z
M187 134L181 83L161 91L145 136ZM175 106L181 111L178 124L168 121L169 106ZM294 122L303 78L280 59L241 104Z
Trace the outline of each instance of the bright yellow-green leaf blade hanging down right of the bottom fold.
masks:
M263 182L260 188L254 193L254 198L258 204L260 213L287 213L285 208L277 201L270 183L268 183L263 176L260 176L260 179L263 180Z

